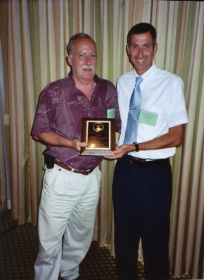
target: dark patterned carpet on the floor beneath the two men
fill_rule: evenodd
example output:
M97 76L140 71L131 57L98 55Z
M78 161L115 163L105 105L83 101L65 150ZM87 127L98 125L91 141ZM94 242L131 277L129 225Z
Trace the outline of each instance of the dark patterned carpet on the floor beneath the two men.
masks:
M0 215L0 279L33 280L34 261L37 256L37 229L31 224L17 226L11 219L11 210ZM144 278L144 262L138 262L140 280ZM110 246L99 246L92 241L91 247L82 264L80 276L84 280L117 279L115 259L110 253ZM60 278L59 278L60 279ZM171 279L189 279L188 275Z

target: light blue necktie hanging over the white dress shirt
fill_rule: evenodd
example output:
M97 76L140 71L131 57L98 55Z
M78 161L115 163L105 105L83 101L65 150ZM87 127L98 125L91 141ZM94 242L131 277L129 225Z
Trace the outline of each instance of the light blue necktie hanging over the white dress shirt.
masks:
M138 119L141 109L141 90L139 85L142 81L143 78L136 77L136 84L129 102L129 113L123 144L133 144L137 140Z

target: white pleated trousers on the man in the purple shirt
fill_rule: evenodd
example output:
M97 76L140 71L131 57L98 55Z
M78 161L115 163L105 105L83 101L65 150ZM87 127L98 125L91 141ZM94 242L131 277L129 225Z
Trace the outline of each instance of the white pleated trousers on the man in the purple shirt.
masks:
M39 253L35 280L65 280L79 276L93 238L101 172L85 176L55 164L46 169L39 205ZM63 240L63 244L62 244Z

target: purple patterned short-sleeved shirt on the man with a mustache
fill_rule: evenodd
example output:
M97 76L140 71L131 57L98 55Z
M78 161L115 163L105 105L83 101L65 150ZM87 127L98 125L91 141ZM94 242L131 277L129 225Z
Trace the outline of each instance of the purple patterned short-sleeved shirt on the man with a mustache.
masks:
M107 109L115 108L116 131L120 131L117 91L108 80L94 76L96 86L87 99L76 87L71 73L47 85L39 97L32 135L54 132L68 139L81 140L82 118L106 118ZM46 152L66 166L78 170L94 169L103 157L80 156L68 147L48 145Z

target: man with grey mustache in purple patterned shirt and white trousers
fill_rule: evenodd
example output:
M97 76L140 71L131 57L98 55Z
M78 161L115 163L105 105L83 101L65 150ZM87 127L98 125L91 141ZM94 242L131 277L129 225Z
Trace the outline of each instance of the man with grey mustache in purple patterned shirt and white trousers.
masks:
M39 205L39 253L35 280L81 279L79 263L91 244L98 204L103 157L80 156L82 118L106 118L115 109L120 130L117 92L96 75L96 44L77 33L67 46L68 77L50 83L39 97L32 128L44 142L46 159ZM62 244L63 240L63 244Z

